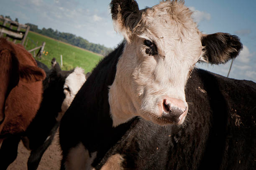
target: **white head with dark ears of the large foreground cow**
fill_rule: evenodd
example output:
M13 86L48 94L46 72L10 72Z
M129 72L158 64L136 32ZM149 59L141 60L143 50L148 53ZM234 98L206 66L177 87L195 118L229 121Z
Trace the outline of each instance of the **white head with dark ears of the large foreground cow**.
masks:
M139 10L135 0L112 0L110 7L115 29L125 37L109 90L113 126L134 116L181 125L188 111L184 88L195 63L225 63L242 48L235 35L202 34L184 2Z

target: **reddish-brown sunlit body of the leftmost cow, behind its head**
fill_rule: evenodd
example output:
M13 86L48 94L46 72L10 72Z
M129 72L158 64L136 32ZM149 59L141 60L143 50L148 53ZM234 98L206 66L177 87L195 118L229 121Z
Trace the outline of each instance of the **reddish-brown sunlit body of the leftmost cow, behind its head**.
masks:
M44 72L40 70L38 72L36 60L23 46L7 41L5 43L8 43L7 50L13 52L18 59L19 69L22 70L24 67L28 67L31 69L27 71L31 72L26 72L26 69L22 70L18 85L10 91L5 101L5 120L0 125L2 138L6 135L22 133L26 130L36 115L42 100L43 85L42 80L39 80L42 76L36 74L43 73L43 77L45 77ZM12 48L9 48L10 46ZM23 75L28 76L22 78Z

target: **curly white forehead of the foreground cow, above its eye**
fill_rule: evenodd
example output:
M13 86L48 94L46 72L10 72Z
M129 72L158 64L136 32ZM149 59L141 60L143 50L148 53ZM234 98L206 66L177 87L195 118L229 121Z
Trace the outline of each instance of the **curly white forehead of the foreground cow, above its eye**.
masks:
M198 38L201 33L191 15L192 11L181 2L161 2L143 10L141 23L138 25L139 35L148 34L154 38L163 38L165 35L166 38L174 39L196 35L195 38Z

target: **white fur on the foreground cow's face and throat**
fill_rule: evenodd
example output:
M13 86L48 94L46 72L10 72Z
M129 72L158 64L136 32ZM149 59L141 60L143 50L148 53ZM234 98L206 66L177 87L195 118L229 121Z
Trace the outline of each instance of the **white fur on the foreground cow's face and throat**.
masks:
M183 3L174 2L171 6L167 1L152 7L154 10L146 10L133 41L125 36L129 43L125 43L109 90L113 126L134 116L159 123L156 119L161 110L157 106L164 96L180 99L187 106L184 88L189 70L202 57L202 34ZM114 22L116 27L120 25L120 21ZM146 54L144 40L156 44L158 55Z

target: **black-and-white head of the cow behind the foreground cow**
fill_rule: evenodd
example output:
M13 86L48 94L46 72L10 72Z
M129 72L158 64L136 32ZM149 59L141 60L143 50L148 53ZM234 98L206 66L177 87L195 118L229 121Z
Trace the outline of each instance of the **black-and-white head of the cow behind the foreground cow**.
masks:
M51 111L56 113L55 118L60 121L86 78L81 67L65 71L61 70L55 58L52 63L54 65L52 65L50 74L47 77L47 82L44 82L44 95L45 98L54 101L54 103L51 103Z

